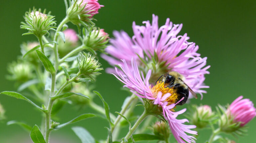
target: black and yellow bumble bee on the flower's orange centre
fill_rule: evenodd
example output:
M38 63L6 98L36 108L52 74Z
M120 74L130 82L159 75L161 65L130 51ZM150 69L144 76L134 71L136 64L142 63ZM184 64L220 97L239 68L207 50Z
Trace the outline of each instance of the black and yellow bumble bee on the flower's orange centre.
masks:
M178 101L181 100L181 98L184 97L184 99L178 103L178 105L183 105L187 102L188 98L189 98L189 91L191 92L191 94L194 96L194 98L197 99L197 95L195 94L195 92L183 81L185 80L185 77L183 75L181 75L178 72L175 71L170 71L167 73L167 75L162 75L165 77L165 79L163 79L164 84L167 84L167 86L165 88L173 88L174 92L176 94L178 94ZM162 77L161 76L161 77ZM161 78L159 77L158 80ZM157 80L157 81L158 81ZM157 82L156 82L157 83Z

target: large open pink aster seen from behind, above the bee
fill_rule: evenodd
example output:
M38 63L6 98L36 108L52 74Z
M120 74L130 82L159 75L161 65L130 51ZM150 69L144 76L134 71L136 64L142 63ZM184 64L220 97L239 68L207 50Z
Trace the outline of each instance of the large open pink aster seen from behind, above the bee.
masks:
M186 78L186 84L202 98L202 93L206 93L202 88L209 88L203 82L204 74L209 74L207 69L210 66L205 66L207 57L201 58L196 53L198 46L187 41L187 34L177 36L182 24L173 24L167 18L165 25L159 27L158 17L155 15L152 23L143 23L145 25L139 26L133 22L132 38L124 31L114 31L115 39L111 39L112 45L106 48L106 53L110 56L103 54L102 57L110 65L123 65L120 59L125 59L129 68L132 67L131 57L134 57L144 74L149 69L152 70L150 83L154 83L168 71L179 72ZM156 61L155 67L152 66L153 61ZM107 69L107 72L114 72L114 69Z

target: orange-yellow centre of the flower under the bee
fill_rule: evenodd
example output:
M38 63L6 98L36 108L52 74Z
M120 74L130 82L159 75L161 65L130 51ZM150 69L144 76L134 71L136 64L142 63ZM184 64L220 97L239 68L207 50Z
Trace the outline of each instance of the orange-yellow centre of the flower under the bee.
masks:
M176 103L178 100L178 95L173 91L173 88L165 88L164 82L157 82L152 88L149 87L153 93L153 96L156 98L158 92L162 92L162 96L166 93L171 93L171 96L167 97L165 101L168 102L168 105Z

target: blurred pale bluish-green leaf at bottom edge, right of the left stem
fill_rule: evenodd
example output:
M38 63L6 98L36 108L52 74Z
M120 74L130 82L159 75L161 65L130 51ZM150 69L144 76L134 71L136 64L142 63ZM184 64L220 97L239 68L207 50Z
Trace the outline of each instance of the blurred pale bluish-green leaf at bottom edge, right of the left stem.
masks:
M85 128L80 126L75 126L75 127L72 127L72 130L79 137L82 143L95 143L95 139Z

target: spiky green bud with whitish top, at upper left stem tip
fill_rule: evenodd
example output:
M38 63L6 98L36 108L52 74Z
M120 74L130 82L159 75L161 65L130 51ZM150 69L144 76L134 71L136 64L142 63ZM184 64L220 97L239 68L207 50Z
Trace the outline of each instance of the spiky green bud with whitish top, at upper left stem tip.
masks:
M37 37L41 37L45 34L49 34L49 30L55 27L56 21L54 21L54 16L50 15L50 12L48 14L45 14L46 10L44 12L41 12L41 9L38 11L36 9L33 9L33 11L29 11L25 13L25 21L21 22L23 25L21 25L22 29L29 30L28 33L24 33L23 35L28 34L34 34Z

